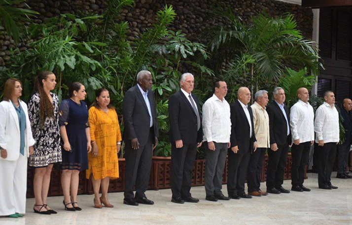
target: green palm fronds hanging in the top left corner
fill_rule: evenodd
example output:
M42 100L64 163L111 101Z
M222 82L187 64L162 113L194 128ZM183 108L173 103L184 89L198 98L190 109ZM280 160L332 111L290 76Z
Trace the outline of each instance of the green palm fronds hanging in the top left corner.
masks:
M30 16L38 14L30 10L30 7L25 2L25 0L0 0L0 26L6 29L15 42L18 42L21 28L25 28L23 22L29 21ZM14 6L20 3L24 4L28 9Z

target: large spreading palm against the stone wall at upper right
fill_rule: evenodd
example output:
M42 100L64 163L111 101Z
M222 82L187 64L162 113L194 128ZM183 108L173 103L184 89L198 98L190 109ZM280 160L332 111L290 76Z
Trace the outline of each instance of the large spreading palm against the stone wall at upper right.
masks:
M218 15L229 26L216 26L207 34L211 37L209 45L216 68L221 68L224 60L230 62L223 75L226 79L245 77L253 93L261 83L278 82L287 65L306 67L314 75L319 73L322 65L316 43L302 36L292 14L278 18L259 14L248 25L230 8L220 10Z

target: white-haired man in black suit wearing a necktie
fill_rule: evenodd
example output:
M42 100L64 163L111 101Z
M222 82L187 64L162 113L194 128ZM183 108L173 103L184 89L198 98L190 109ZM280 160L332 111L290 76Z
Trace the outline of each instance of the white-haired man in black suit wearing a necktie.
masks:
M194 78L184 73L180 79L181 89L169 99L171 141L171 191L172 202L198 202L192 197L192 169L197 147L202 145L203 131L198 98L191 94Z

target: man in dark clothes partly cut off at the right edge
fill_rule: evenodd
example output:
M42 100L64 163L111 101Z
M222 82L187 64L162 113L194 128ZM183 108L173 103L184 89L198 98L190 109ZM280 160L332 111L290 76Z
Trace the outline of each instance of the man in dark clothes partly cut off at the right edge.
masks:
M348 172L345 172L345 168L349 165L349 153L351 148L351 133L352 133L352 100L349 98L344 99L344 107L341 109L341 115L344 118L343 126L345 128L345 142L340 144L337 151L337 178L347 179L352 178Z

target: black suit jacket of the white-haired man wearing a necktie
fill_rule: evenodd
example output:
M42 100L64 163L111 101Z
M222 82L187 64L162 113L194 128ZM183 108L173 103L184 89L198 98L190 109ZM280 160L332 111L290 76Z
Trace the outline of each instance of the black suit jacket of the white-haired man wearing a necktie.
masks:
M198 98L194 94L192 94L192 98L197 105L199 116L201 116ZM198 122L196 112L194 112L191 103L181 90L171 95L169 99L169 121L171 142L177 140L182 140L183 143L202 142L202 123L197 131ZM202 117L200 121L202 121Z

